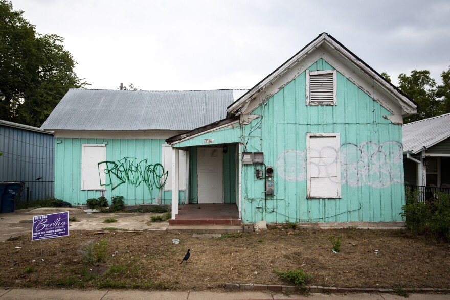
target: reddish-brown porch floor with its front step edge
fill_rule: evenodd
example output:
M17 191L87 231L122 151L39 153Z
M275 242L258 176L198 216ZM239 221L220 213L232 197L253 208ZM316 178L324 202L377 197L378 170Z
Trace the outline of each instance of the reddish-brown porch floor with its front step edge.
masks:
M240 225L236 204L187 204L178 207L170 225Z

